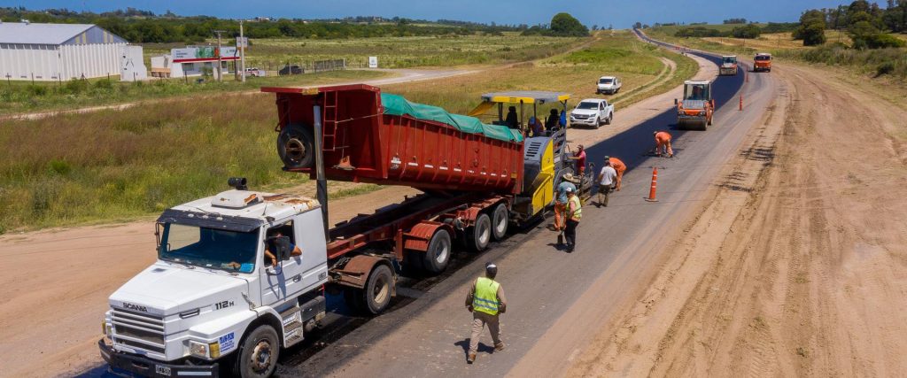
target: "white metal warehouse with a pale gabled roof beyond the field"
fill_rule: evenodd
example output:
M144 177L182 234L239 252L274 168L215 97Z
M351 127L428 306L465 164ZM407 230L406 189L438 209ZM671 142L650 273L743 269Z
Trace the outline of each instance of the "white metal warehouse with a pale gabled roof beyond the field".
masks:
M0 80L55 82L119 75L127 44L93 24L0 22Z

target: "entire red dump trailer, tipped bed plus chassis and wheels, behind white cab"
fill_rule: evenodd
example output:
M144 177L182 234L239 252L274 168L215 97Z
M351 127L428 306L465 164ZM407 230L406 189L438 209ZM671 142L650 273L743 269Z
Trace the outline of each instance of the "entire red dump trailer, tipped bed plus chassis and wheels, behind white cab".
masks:
M407 102L365 84L262 92L277 97L284 170L318 181L329 282L345 287L351 305L374 314L389 303L375 295L380 290L367 289L376 267L440 273L456 239L481 251L505 237L511 222L543 217L553 198L560 174L556 147L565 144L566 131L523 141L520 129ZM328 227L327 179L409 186L424 194ZM588 192L590 178L583 182Z

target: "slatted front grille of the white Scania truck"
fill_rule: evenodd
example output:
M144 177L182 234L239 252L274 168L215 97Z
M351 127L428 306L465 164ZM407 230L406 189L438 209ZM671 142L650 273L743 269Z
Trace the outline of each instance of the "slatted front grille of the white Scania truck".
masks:
M160 316L114 308L111 320L113 343L164 353L164 321Z

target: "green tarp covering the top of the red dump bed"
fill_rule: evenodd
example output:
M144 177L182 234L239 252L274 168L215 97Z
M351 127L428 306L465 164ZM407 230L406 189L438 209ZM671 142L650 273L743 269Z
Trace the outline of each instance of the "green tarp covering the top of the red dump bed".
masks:
M381 104L385 114L408 115L419 120L437 121L455 127L459 131L483 134L499 141L522 141L522 133L507 126L482 123L478 118L452 114L437 106L407 101L399 94L381 93Z

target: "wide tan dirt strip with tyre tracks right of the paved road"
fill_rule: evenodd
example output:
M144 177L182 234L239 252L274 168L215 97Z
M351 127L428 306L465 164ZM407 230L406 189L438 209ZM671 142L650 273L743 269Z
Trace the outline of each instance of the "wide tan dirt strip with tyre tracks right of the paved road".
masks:
M907 111L783 64L764 126L567 375L907 371Z

